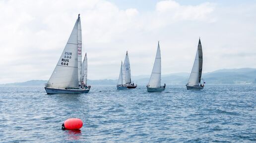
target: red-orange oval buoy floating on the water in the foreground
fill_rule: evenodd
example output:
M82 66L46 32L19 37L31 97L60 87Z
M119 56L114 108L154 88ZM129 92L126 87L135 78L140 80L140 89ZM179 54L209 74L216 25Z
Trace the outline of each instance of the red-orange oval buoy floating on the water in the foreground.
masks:
M62 124L62 129L68 129L68 130L78 130L82 128L83 121L78 118L71 118L64 121L64 124Z

